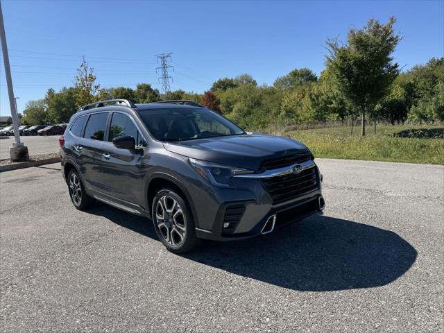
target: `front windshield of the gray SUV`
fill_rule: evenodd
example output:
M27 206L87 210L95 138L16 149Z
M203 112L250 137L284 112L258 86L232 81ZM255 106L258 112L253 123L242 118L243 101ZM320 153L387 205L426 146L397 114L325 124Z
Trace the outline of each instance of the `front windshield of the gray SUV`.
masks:
M205 108L140 110L150 133L160 141L183 141L246 134L216 112Z

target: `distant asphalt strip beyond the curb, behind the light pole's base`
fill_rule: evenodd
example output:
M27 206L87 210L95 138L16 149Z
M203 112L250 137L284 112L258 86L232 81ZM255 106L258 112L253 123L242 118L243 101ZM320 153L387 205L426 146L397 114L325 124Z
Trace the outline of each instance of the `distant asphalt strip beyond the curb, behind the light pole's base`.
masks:
M58 135L44 135L44 136L22 136L20 140L28 147L29 155L40 155L47 153L57 153ZM9 148L12 147L14 137L6 137L0 139L0 159L9 158Z

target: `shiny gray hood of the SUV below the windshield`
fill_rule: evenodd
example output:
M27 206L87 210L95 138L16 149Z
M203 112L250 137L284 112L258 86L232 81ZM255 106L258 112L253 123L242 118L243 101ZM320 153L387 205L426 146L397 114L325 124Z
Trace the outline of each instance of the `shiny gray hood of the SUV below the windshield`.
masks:
M232 167L258 171L264 160L309 153L293 139L265 134L230 135L182 142L164 142L167 151Z

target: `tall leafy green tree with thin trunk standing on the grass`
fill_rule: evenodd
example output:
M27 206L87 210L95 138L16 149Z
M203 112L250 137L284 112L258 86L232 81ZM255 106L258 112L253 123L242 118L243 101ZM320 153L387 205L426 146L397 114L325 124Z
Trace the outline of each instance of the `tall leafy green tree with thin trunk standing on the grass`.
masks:
M326 65L339 83L344 96L362 116L361 135L366 135L366 112L388 93L399 74L391 57L401 37L394 30L395 18L387 24L370 19L360 30L350 28L348 44L327 40L330 56Z

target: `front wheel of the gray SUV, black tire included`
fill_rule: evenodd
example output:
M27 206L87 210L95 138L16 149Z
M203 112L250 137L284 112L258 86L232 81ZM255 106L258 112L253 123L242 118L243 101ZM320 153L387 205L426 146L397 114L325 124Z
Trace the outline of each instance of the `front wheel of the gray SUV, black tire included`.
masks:
M162 203L159 203L159 201L164 200L164 198L167 198L167 203L165 204L164 201L162 201ZM169 220L171 221L165 221L168 218L164 219L163 221L157 219L157 215L160 215L157 214L158 212L160 212L157 210L157 208L159 208L158 205L161 205L162 207L163 205L169 205L169 207L167 207L168 210L173 206L173 200L176 200L176 203L178 204L178 209L174 211L173 207L172 212L167 213L170 215L171 219ZM180 213L178 214L179 210ZM151 207L151 212L153 217L154 230L157 234L157 237L160 239L160 241L162 241L162 244L164 244L164 246L172 253L187 253L200 244L200 239L196 237L193 215L191 214L189 206L187 205L184 198L177 194L176 189L164 188L158 191L153 199L153 207ZM180 214L182 214L183 219ZM173 216L171 217L171 215ZM165 213L164 216L166 216ZM185 227L185 230L182 230L183 227ZM175 242L177 243L177 241L180 239L178 235L181 232L183 232L182 240L180 241L180 243L174 244ZM166 234L169 234L169 237L166 237ZM170 241L168 241L167 238L169 238Z

